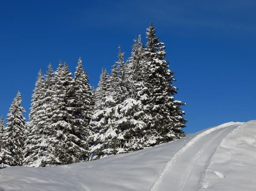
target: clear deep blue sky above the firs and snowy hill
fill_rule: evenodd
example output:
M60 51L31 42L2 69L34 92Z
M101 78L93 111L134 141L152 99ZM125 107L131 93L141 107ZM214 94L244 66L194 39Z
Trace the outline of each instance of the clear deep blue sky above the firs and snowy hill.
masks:
M118 45L130 56L135 36L152 21L175 72L186 133L256 119L255 0L1 1L0 115L21 92L28 118L39 69L79 56L90 84L110 71Z

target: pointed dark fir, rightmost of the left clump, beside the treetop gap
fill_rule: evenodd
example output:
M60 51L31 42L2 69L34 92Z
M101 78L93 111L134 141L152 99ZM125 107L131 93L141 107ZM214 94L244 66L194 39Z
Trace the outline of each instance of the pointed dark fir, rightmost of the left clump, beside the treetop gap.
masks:
M87 138L93 134L89 125L93 114L93 93L88 82L88 75L83 69L81 58L76 67L73 84L68 87L66 95L67 111L71 118L67 121L70 129L66 142L70 142L68 154L73 162L88 160L90 156Z

